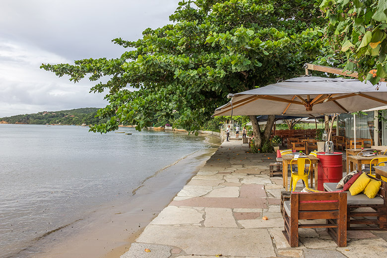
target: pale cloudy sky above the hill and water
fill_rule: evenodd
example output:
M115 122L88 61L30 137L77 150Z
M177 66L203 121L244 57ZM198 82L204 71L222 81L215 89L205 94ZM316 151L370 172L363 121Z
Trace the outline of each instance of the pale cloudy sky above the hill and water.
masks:
M115 38L137 40L171 23L179 0L1 0L0 117L105 107L103 93L40 69L86 58L117 58Z

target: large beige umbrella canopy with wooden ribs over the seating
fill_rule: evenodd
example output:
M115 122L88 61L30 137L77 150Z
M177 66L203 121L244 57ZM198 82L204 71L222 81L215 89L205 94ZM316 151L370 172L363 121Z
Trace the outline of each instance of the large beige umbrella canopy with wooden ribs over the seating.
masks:
M350 113L387 105L387 85L303 76L236 94L213 116Z

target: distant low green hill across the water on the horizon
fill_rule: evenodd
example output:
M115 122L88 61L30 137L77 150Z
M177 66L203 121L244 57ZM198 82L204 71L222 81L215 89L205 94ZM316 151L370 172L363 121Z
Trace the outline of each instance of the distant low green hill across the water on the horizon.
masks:
M78 108L61 111L43 111L37 114L17 115L0 118L0 124L27 124L27 125L94 125L106 122L106 119L95 118L98 108Z

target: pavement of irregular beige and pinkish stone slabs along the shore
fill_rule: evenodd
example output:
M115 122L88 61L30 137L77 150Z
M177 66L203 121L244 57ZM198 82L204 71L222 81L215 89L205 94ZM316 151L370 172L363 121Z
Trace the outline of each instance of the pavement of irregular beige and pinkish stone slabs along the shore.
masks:
M291 248L282 234L282 177L268 176L275 156L247 151L241 141L223 142L121 258L387 257L387 231L349 231L348 246L337 248L324 229L300 229Z

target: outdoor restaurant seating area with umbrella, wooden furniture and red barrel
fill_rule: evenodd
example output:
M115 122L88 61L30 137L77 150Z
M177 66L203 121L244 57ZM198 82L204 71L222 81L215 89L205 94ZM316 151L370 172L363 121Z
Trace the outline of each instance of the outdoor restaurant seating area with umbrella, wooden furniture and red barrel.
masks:
M326 228L339 247L346 246L347 230L387 230L385 82L374 86L357 79L306 75L229 98L214 116L276 115L277 121L281 116L316 121L316 129L274 126L272 131L282 142L276 162L270 163L270 177L283 178L283 233L291 247L298 246L301 227ZM324 119L326 128L320 141L318 118ZM296 190L300 182L303 193ZM300 224L299 219L326 223Z

